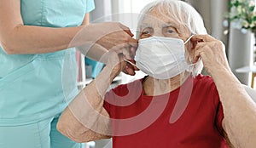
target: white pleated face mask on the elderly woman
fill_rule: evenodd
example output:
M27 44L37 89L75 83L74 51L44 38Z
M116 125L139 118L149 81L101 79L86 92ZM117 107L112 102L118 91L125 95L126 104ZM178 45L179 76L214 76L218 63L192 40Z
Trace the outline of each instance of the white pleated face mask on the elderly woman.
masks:
M192 36L191 36L192 37ZM135 61L137 68L151 77L169 79L189 69L182 39L148 37L139 40Z

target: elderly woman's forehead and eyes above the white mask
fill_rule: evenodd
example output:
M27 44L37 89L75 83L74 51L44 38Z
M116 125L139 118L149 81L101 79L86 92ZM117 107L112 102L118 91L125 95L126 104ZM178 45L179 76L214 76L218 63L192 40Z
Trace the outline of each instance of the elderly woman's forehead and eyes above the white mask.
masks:
M190 36L189 29L180 25L177 20L158 12L157 9L151 10L145 16L141 24L140 38L146 37L175 37L187 40Z

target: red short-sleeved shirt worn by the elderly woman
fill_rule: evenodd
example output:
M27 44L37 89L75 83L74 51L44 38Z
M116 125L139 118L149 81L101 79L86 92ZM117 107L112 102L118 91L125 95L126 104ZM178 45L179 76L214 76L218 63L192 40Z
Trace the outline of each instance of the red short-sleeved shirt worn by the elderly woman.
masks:
M119 85L105 96L113 148L229 147L211 77L190 77L180 88L154 97L143 94L142 81Z

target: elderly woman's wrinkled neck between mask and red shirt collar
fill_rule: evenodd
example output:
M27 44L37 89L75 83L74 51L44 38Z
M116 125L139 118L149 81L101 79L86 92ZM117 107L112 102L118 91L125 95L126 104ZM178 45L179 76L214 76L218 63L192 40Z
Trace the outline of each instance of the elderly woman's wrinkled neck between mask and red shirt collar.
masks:
M155 79L154 77L146 77L143 81L143 90L145 95L154 96L172 92L179 88L190 76L188 72L184 72L170 79Z

